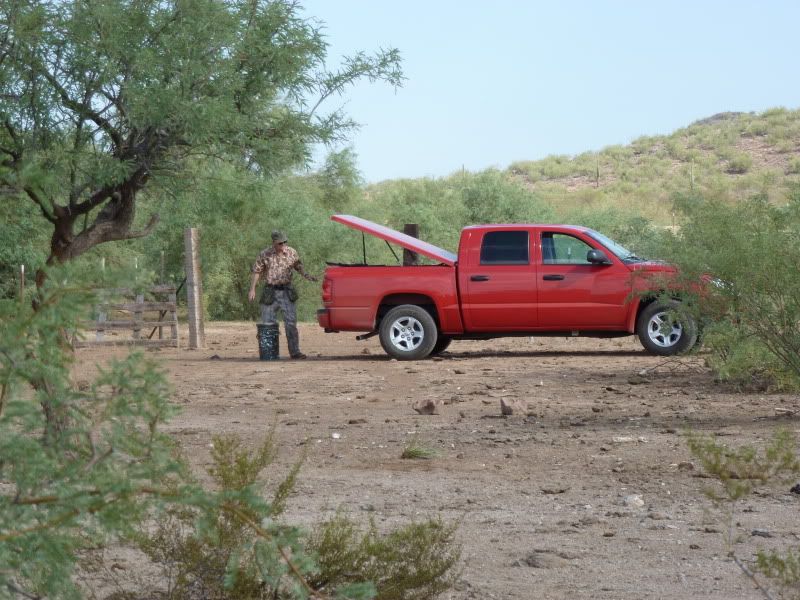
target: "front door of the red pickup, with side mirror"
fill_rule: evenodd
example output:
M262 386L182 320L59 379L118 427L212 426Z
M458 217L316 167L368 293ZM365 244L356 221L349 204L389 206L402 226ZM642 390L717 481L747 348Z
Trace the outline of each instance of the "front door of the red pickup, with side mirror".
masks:
M577 234L540 232L538 253L539 322L543 329L624 329L631 292L630 271L611 252ZM602 250L612 264L586 259Z

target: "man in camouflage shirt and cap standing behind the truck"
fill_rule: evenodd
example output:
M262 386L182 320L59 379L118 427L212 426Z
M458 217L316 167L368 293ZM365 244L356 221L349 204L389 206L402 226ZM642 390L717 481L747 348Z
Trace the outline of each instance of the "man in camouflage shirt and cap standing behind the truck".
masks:
M300 352L300 336L297 333L295 302L298 296L292 285L293 271L297 271L309 281L317 280L313 275L306 273L297 250L286 245L286 236L280 231L273 231L272 246L262 250L253 265L253 280L247 297L250 302L256 299L256 284L263 274L265 285L260 300L261 321L266 325L277 326L276 312L280 309L286 328L289 356L305 358L306 355Z

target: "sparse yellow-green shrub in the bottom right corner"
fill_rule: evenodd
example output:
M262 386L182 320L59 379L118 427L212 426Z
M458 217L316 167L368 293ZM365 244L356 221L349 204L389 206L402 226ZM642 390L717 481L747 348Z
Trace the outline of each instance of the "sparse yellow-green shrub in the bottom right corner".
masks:
M711 501L731 559L762 592L765 598L776 596L770 584L778 586L781 597L800 597L800 546L778 550L758 549L742 556L740 545L745 536L739 519L747 498L777 486L789 487L800 473L797 441L787 431L778 431L763 448L719 444L713 437L690 433L689 450L700 461L713 484L704 493ZM752 538L752 536L746 536ZM748 548L744 546L744 548Z

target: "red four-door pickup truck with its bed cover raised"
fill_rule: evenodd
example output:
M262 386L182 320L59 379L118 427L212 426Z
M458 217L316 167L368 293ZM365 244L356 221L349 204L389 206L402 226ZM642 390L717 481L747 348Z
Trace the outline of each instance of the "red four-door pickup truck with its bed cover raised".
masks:
M586 227L465 227L456 255L366 219L331 219L435 263L329 263L325 270L320 326L364 332L359 339L379 335L399 360L438 354L454 339L636 334L662 356L697 341L697 324L678 295L664 300L675 268L640 259Z

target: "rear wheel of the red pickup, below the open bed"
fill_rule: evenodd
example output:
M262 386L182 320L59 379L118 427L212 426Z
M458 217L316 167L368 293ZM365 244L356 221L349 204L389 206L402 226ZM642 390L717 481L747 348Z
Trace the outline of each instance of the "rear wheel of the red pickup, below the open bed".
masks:
M397 360L419 360L433 351L439 332L427 310L414 304L401 304L383 317L378 335L389 356Z

